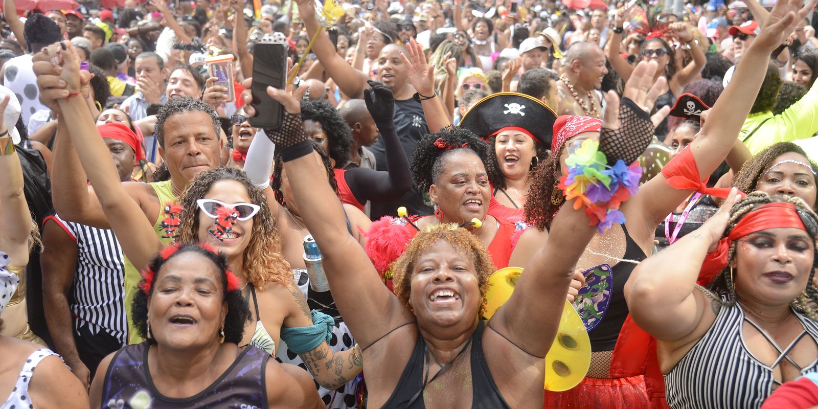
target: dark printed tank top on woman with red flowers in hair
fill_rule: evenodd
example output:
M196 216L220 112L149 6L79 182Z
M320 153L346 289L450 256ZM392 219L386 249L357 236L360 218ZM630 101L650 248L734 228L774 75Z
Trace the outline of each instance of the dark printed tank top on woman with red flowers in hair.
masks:
M168 398L158 390L148 371L147 341L119 349L102 384L102 408L123 409L267 407L264 370L269 354L248 346L236 361L205 390L190 398Z

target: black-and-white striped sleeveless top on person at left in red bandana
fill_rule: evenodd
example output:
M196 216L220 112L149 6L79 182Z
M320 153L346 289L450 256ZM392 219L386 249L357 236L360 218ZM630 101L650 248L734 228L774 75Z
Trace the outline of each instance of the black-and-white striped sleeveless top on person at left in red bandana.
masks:
M125 263L122 247L114 231L65 222L49 216L77 243L79 257L74 274L74 303L71 314L74 330L83 324L96 335L100 330L128 344L128 320L125 316Z

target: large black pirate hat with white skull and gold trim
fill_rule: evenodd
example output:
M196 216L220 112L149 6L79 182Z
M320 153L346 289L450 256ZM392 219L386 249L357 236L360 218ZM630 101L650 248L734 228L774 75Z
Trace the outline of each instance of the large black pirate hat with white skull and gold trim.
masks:
M551 146L557 115L537 98L517 92L498 92L483 98L461 119L460 126L488 138L503 128L517 128L534 142Z

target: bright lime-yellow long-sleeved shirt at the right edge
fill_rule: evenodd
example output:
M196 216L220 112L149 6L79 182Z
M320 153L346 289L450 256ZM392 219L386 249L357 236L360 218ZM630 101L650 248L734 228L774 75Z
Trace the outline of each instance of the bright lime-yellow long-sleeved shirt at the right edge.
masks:
M761 127L759 124L762 124ZM758 129L753 133L753 129L756 128ZM815 135L816 132L818 132L818 81L813 83L807 94L779 115L773 115L770 111L749 115L741 127L739 140L756 155L777 142L804 139Z

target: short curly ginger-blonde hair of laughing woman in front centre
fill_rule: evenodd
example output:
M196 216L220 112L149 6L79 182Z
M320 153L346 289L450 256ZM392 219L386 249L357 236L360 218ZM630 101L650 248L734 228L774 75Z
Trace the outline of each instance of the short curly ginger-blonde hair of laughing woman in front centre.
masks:
M444 240L449 245L460 253L471 258L474 263L474 275L477 276L477 281L480 289L480 297L486 294L488 290L488 277L492 276L495 270L494 263L492 263L492 256L488 254L483 242L471 234L465 228L457 227L455 224L439 223L423 231L417 233L414 239L411 240L407 246L406 251L401 254L401 257L395 260L392 267L393 272L393 288L398 299L407 306L412 312L409 299L411 299L411 276L412 270L415 269L415 262L426 249L438 242ZM485 312L485 305L481 300L479 303L479 315L483 317Z

